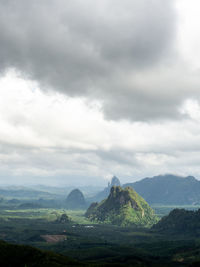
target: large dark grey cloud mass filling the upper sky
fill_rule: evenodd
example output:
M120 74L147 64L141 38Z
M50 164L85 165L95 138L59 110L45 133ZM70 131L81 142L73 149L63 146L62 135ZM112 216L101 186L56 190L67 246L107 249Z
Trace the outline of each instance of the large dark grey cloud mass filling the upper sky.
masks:
M0 68L15 67L42 89L98 99L112 119L175 116L185 94L182 73L171 69L173 3L1 0Z

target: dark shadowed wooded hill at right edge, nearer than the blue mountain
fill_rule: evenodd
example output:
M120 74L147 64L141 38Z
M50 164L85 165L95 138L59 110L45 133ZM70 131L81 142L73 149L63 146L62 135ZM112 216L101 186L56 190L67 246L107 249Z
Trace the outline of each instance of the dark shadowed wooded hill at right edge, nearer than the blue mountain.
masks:
M174 209L155 224L153 229L164 234L200 236L200 209L197 211Z

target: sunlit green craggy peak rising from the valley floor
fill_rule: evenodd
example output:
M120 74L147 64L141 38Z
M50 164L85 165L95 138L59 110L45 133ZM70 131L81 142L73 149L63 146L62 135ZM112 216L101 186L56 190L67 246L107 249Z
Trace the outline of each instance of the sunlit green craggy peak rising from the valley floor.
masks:
M111 187L108 198L92 203L85 216L91 221L113 225L150 226L157 222L152 208L131 187Z

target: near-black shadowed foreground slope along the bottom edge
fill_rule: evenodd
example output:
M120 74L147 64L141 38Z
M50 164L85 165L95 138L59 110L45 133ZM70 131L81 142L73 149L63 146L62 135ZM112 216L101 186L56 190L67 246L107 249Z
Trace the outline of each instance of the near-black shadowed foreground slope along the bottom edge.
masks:
M77 261L69 259L66 256L59 255L50 251L42 251L26 245L13 245L0 241L0 266L2 267L106 267L106 266L135 266L135 267L175 267L176 263L170 262L168 259L164 261L158 257L146 255L137 249L128 247L111 247L101 249L94 247L92 252L90 249L83 250L83 254L93 254L93 259L88 261ZM113 252L116 255L113 255ZM100 255L98 255L100 253ZM109 255L110 253L110 255ZM79 253L80 254L80 253ZM107 256L106 256L107 254ZM109 257L108 257L109 255ZM103 258L103 261L102 261Z

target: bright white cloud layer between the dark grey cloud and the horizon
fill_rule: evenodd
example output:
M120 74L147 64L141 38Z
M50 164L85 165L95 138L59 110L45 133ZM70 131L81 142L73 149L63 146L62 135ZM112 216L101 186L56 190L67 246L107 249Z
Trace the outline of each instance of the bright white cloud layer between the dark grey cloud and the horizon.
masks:
M0 79L0 184L105 184L159 173L199 178L200 106L187 119L162 123L107 121L95 103L46 95L9 73Z

